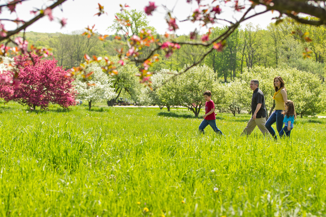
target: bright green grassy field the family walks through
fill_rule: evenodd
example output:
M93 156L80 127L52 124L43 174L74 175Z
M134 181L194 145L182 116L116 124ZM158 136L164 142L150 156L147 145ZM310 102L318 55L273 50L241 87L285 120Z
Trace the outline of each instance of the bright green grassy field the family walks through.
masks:
M187 110L86 108L0 104L1 216L326 216L326 119L274 142L239 136L249 115L219 136Z

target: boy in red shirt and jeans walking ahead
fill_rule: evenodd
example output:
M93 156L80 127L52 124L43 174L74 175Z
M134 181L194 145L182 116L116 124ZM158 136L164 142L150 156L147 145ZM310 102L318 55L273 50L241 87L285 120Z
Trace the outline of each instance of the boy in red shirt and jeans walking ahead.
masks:
M208 125L211 126L213 128L213 130L216 133L219 133L221 135L223 135L222 131L219 130L216 126L216 122L215 122L215 105L213 100L211 100L212 97L212 92L209 90L206 90L204 93L204 99L206 101L205 104L205 115L203 115L203 120L199 125L199 132L204 133L204 129L205 127L207 127Z

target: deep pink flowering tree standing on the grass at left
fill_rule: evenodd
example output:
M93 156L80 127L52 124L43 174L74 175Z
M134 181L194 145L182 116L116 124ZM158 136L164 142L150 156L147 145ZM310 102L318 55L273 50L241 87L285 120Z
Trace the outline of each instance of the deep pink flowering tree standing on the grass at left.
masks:
M50 102L64 108L75 105L76 91L67 71L57 66L54 59L42 60L32 54L32 60L29 55L14 58L14 68L3 72L8 80L0 83L0 97L34 110L36 106L45 109Z

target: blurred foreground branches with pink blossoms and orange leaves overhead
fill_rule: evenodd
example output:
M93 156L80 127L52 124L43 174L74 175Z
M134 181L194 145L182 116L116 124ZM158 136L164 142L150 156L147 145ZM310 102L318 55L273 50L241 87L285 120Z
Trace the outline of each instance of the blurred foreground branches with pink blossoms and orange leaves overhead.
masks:
M17 54L19 52L22 52L25 54L28 49L28 42L25 40L25 37L17 37L14 38L14 35L19 33L20 31L25 31L25 29L39 20L40 18L47 16L50 20L58 20L62 26L64 26L67 22L66 19L58 19L55 18L52 14L52 9L61 5L66 0L54 0L51 1L51 4L44 4L43 6L37 6L35 5L35 9L33 11L35 17L31 20L21 20L17 19L10 20L10 19L0 19L1 21L12 21L17 23L17 28L11 31L7 31L5 26L3 24L0 24L0 42L3 43L0 46L0 56L5 56L8 53ZM194 1L192 0L186 0L187 3L192 3ZM196 8L191 14L185 19L185 20L178 20L177 16L179 15L177 11L176 13L173 13L173 8L167 8L166 6L162 6L163 10L166 11L166 21L168 25L168 30L174 33L178 28L179 25L182 22L193 22L195 24L198 24L198 26L208 26L211 24L216 24L219 22L228 22L229 26L228 28L221 33L218 36L215 36L214 38L210 38L209 33L201 36L200 42L193 42L193 41L183 41L180 43L177 43L173 38L169 38L168 34L166 34L166 42L162 43L161 40L154 37L152 34L152 31L147 29L140 30L139 35L132 35L129 38L129 32L127 34L124 34L125 40L127 42L127 49L117 49L118 56L121 61L125 61L125 59L129 59L135 61L138 66L140 66L140 73L137 73L137 75L140 78L140 81L142 83L145 83L146 85L151 84L150 76L153 74L153 72L149 71L149 67L156 61L158 61L158 50L162 50L165 53L166 57L170 57L174 50L179 49L181 46L184 45L192 45L192 46L204 46L208 47L207 51L204 52L201 56L201 58L197 61L195 61L193 64L188 65L185 67L182 71L178 72L178 74L184 74L186 71L191 69L192 67L198 65L204 58L211 53L214 49L217 51L222 51L223 47L225 46L225 40L232 34L239 25L244 22L245 20L248 20L252 17L259 16L263 13L266 13L267 11L273 10L278 11L280 13L280 16L276 18L276 23L279 23L283 20L284 17L290 17L291 19L295 20L296 22L308 24L308 25L314 25L314 26L320 26L326 24L326 4L325 1L306 1L306 0L252 0L250 1L250 5L245 5L244 1L239 0L214 0L214 1L208 1L208 0L197 0L198 8ZM6 8L11 12L16 12L16 5L22 3L24 4L24 0L14 0L14 1L6 1L3 5L0 5L1 9ZM323 4L322 4L323 3ZM257 5L265 6L265 10L261 12L256 12L255 7ZM128 5L120 5L122 13L124 12L126 7L129 7ZM241 13L240 19L233 19L233 20L226 20L224 17L224 11L222 10L223 7L232 7L234 14ZM147 16L152 16L158 6L155 4L155 2L149 2L149 5L145 6L144 12L147 14ZM97 16L101 16L102 14L107 14L104 10L104 6L98 4L98 13L96 13ZM253 12L253 13L251 13ZM228 12L229 13L229 12ZM307 15L310 15L314 17L314 19L305 19L304 17L300 16L300 13L304 13ZM235 17L235 16L234 16ZM131 20L126 20L123 16L120 18L116 16L117 24L120 26L118 29L125 29L127 27L131 26ZM95 26L87 27L86 32L83 33L83 35L89 37L95 36ZM146 27L145 27L146 28ZM190 33L190 39L193 39L197 36L197 29L192 31ZM298 36L304 40L304 41L311 41L309 37L306 36L305 33L297 31L296 33ZM98 38L100 40L104 40L107 35L100 35ZM117 40L121 40L120 36L116 37ZM8 47L8 43L12 42L15 44L14 47ZM143 51L146 49L143 49L145 47L153 47L148 54L143 57ZM30 46L30 50L35 52L37 55L45 55L48 56L51 53L46 48L37 48L35 46ZM304 48L304 57L310 57L311 52L309 48ZM31 53L31 52L29 52ZM32 59L32 56L30 56L30 59ZM99 61L100 58L93 56L92 59L86 60L87 64L90 64L93 61ZM103 69L106 73L113 73L116 74L116 71L114 71L114 68L112 67L114 63L111 61L107 61L106 65L103 66ZM87 70L87 66L80 65L80 67L75 67L71 69L71 76L74 76L76 74L85 73Z

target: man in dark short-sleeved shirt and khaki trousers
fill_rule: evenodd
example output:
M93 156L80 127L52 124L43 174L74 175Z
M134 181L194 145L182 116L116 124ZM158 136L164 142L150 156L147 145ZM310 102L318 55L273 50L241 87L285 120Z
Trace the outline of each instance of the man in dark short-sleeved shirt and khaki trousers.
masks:
M244 131L241 135L249 136L250 133L255 129L256 126L260 129L264 136L269 136L269 131L265 127L266 123L266 109L265 109L265 97L263 92L258 88L259 81L253 79L250 81L250 89L254 92L251 99L251 112L252 116L248 121L247 126L244 128Z

